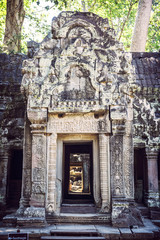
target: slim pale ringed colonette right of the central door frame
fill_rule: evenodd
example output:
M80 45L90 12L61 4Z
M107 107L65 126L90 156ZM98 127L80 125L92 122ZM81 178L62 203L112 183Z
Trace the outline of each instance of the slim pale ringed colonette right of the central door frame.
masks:
M99 158L100 158L100 186L102 207L100 212L110 211L110 158L109 158L109 136L99 134Z

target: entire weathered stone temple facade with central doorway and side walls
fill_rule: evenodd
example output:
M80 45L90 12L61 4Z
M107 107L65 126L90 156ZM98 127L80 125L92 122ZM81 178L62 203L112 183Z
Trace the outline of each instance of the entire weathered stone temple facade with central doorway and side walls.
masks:
M126 53L107 19L62 12L0 66L4 225L158 222L159 53Z

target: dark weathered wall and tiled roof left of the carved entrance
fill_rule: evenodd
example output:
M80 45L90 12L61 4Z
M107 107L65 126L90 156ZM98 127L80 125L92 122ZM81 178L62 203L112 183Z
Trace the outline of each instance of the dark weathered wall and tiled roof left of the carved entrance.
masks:
M6 203L8 160L23 148L25 101L20 92L25 55L0 54L0 209Z

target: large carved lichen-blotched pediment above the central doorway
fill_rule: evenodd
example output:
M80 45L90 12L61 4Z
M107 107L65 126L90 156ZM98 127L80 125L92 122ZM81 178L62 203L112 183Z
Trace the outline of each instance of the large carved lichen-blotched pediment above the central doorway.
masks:
M131 58L114 30L92 13L62 12L52 37L23 63L22 91L30 108L93 112L131 102Z

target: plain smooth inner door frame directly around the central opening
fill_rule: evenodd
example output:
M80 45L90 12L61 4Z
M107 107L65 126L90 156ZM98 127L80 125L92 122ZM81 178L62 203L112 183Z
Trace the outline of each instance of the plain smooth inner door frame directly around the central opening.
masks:
M59 209L63 201L63 145L65 143L88 143L93 146L93 198L95 205L100 207L100 166L97 134L58 134L57 136L57 171L56 182L58 188L57 208ZM60 190L59 190L60 189Z

